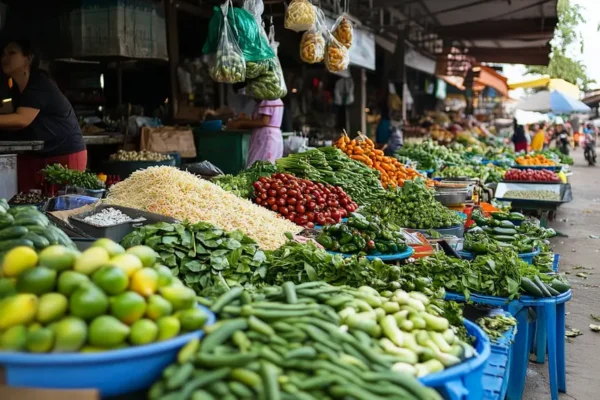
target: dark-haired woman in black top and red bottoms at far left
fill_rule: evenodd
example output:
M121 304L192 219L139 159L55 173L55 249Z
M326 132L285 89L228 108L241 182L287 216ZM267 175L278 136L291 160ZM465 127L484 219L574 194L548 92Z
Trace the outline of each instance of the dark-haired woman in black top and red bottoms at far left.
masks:
M18 184L23 192L40 187L38 172L46 165L60 163L83 171L87 164L75 111L58 87L37 68L38 64L28 42L12 41L4 48L2 71L14 83L14 112L0 115L0 131L18 131L20 140L44 142L39 152L18 157Z

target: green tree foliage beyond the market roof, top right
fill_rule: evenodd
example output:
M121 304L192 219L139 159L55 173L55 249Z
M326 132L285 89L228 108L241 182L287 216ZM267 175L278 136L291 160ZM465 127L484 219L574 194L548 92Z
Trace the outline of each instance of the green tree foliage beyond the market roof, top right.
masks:
M550 63L547 66L529 66L527 71L564 79L587 89L595 81L588 77L586 67L581 61L574 60L568 55L569 48L574 46L578 46L580 52L583 52L583 37L576 28L585 23L584 10L578 4L572 4L570 0L559 0L557 9L558 24L551 42Z

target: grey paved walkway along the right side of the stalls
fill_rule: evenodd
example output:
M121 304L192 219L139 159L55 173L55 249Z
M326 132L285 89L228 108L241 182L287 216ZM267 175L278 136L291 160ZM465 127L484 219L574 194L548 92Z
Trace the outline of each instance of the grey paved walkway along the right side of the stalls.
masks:
M569 235L557 237L553 243L561 254L560 271L569 271L567 277L573 284L573 299L567 303L567 329L580 329L583 335L567 341L567 395L562 394L561 399L588 400L597 399L600 391L600 333L589 329L590 323L598 324L590 314L600 315L600 239L590 238L600 236L600 166L588 167L581 150L573 157L573 201L559 209L551 226ZM576 266L584 269L574 269ZM575 276L579 272L589 274L588 278ZM530 362L523 399L549 398L547 364Z

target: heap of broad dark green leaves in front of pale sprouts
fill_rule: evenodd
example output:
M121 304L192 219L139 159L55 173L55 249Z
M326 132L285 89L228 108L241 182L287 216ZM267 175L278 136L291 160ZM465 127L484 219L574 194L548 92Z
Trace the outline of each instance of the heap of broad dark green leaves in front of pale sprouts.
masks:
M205 222L146 225L123 238L121 244L144 244L158 252L198 295L215 295L233 286L262 284L267 257L240 231L225 232Z

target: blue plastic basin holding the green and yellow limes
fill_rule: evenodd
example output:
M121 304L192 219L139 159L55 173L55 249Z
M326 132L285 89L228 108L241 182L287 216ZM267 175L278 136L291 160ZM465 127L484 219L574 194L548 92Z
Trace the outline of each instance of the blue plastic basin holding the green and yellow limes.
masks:
M206 307L206 325L215 315ZM187 342L204 335L186 333L165 342L102 353L32 354L0 352L6 384L46 389L97 389L102 397L146 389L175 361Z

